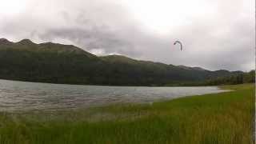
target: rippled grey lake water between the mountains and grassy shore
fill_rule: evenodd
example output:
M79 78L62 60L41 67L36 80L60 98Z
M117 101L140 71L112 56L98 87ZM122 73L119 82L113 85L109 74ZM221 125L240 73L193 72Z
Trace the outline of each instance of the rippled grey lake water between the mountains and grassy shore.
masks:
M0 80L0 111L56 110L111 103L156 102L224 91L226 90L215 86L78 86Z

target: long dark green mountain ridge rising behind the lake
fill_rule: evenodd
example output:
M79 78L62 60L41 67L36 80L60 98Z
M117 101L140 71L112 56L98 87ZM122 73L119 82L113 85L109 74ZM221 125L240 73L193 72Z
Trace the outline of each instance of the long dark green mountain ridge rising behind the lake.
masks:
M73 45L10 42L0 38L0 78L118 86L164 86L203 82L242 72L210 71L140 61L122 55L97 57Z

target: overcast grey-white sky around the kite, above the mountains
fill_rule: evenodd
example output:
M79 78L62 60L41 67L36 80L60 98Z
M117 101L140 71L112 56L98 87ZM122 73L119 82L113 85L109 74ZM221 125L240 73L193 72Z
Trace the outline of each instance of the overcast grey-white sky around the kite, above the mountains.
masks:
M0 38L208 70L254 69L254 0L0 0ZM174 46L183 43L183 50Z

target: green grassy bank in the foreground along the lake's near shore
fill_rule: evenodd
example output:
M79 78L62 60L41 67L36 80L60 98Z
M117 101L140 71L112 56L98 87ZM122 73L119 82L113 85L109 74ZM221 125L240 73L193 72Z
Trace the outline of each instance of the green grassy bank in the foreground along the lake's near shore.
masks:
M0 114L0 143L250 144L254 86L142 105Z

